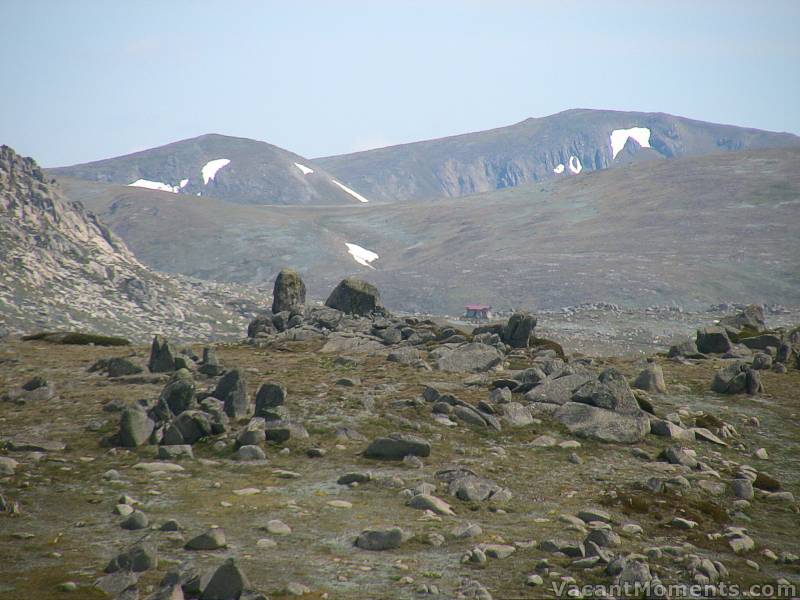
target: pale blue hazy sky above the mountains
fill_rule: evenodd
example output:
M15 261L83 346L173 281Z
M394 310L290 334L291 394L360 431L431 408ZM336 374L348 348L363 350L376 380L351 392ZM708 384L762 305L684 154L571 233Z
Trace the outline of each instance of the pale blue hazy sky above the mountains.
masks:
M570 108L800 134L795 0L1 0L0 143L314 158Z

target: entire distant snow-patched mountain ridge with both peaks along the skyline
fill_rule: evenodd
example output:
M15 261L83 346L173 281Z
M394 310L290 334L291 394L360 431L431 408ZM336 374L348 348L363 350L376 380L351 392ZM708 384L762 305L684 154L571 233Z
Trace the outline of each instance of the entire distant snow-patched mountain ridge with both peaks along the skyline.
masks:
M615 147L615 140L622 146ZM141 185L240 204L347 205L459 197L621 162L790 146L800 146L800 137L662 112L569 109L484 131L316 159L268 142L208 133L49 171L123 185L141 179ZM210 180L200 177L203 165L223 159L226 164Z

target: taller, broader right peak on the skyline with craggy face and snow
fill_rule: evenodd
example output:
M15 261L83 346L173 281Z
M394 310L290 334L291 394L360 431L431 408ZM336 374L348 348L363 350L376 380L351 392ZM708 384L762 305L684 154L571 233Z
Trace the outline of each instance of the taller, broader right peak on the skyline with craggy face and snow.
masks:
M313 162L370 199L393 201L487 192L632 161L798 145L791 134L664 113L576 109Z

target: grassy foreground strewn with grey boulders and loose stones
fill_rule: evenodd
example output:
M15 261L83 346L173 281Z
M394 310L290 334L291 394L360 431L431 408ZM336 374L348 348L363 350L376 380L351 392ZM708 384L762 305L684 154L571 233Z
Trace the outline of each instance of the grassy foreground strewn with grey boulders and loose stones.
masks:
M0 342L0 598L800 583L788 330L652 362L552 336L561 360L547 321L448 330L351 288L329 304L368 318L283 290L205 352Z

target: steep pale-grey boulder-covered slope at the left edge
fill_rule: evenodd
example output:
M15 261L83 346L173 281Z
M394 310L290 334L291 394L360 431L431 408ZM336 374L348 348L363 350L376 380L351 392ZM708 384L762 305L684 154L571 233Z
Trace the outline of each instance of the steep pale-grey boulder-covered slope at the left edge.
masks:
M0 147L0 255L0 319L11 331L221 338L241 329L258 299L244 286L151 271L8 146Z

